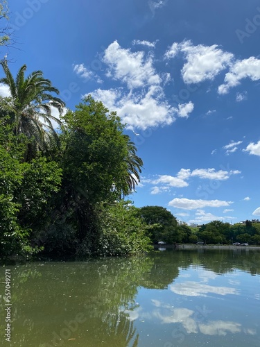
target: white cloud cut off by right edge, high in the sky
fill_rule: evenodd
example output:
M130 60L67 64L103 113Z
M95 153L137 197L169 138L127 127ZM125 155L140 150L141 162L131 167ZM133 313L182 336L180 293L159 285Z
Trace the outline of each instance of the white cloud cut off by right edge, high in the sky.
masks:
M252 81L260 79L260 60L254 57L236 60L234 65L225 75L223 85L218 87L218 94L227 94L229 89L236 87L243 78L250 78Z

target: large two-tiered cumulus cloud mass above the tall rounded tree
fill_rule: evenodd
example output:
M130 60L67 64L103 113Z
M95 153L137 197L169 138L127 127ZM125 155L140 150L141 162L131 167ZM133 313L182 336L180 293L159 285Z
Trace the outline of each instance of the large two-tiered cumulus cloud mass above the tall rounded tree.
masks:
M133 44L155 46L155 42L145 40L134 40ZM191 101L179 103L177 106L172 106L167 101L164 85L171 81L171 74L157 74L153 66L153 54L123 49L114 41L105 49L103 62L108 67L106 76L121 83L121 87L97 89L91 94L94 99L101 100L109 110L116 111L128 129L146 130L171 125L177 117L188 118L193 111L194 105ZM80 74L88 73L81 65L78 70Z

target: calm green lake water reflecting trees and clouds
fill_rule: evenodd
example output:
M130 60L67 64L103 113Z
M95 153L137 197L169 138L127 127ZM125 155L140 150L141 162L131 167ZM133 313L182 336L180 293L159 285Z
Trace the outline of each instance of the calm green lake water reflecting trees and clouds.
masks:
M37 262L0 276L0 346L260 346L259 251Z

